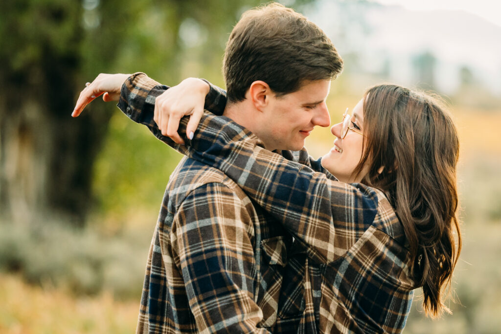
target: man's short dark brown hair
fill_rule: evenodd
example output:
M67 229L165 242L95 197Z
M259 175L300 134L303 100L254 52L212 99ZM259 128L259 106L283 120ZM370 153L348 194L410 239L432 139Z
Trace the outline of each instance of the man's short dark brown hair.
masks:
M343 60L325 33L277 3L243 13L223 61L229 103L243 101L257 80L282 96L308 81L334 79L342 69Z

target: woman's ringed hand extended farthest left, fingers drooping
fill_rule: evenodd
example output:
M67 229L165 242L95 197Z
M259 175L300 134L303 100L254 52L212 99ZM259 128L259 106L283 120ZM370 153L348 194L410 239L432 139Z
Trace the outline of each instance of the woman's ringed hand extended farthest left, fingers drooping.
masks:
M84 108L94 101L98 96L103 95L103 101L118 101L123 83L130 74L105 74L101 73L92 83L87 83L80 92L77 104L71 116L78 117Z

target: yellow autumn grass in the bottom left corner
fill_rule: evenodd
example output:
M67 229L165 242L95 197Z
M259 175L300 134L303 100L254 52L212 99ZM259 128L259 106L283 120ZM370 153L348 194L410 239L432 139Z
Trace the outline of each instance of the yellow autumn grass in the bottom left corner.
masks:
M75 297L0 274L0 333L132 333L138 309L139 300L119 302L108 293Z

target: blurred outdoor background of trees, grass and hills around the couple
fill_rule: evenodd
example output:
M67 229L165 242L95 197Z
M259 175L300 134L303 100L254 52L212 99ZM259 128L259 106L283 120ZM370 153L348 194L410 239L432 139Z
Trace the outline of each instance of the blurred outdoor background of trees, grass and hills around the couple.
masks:
M395 82L440 94L460 134L463 251L452 315L426 318L416 293L405 332L501 332L501 23L488 0L284 0L345 60L332 121L364 90ZM254 0L0 2L0 332L126 333L180 156L113 104L70 117L99 73L146 72L224 87L225 42ZM496 14L497 13L497 14ZM279 120L277 120L279 121ZM308 139L320 157L329 129Z

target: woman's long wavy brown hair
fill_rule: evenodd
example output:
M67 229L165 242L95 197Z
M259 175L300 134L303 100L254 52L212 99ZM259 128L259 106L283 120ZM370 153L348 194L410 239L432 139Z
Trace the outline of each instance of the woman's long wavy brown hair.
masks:
M362 183L384 191L402 222L425 312L450 312L444 290L450 292L461 250L454 123L438 99L396 85L370 88L363 110L364 153L355 174L370 162Z

